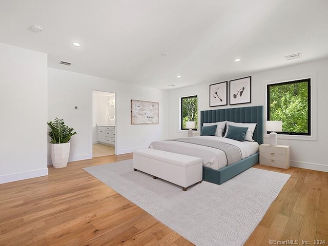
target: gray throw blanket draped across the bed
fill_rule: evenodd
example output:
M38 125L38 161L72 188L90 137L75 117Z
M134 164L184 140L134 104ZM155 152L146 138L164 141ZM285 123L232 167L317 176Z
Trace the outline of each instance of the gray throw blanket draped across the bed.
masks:
M170 139L170 141L188 142L189 144L202 145L222 150L227 156L228 165L241 160L241 151L237 146L227 144L226 142L218 142L211 139L200 139L193 137L183 137Z

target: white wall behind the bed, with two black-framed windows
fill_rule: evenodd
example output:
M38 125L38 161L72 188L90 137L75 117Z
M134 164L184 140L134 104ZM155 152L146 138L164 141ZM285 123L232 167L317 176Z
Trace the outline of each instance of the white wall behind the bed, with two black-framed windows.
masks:
M185 131L179 129L179 98L182 96L198 95L198 112L201 110L223 109L230 107L246 107L263 105L265 109L266 85L278 81L286 81L304 77L312 78L312 89L314 97L313 105L313 122L312 137L284 137L278 135L278 143L280 145L291 146L291 166L314 169L328 172L328 163L325 153L327 151L328 114L326 113L327 92L328 92L328 59L316 60L310 63L288 66L279 69L244 74L234 78L222 78L216 82L195 85L185 88L178 88L169 91L169 137L187 136ZM252 103L234 106L209 107L209 85L229 81L232 79L252 76ZM229 85L229 84L228 84ZM229 87L229 86L228 86ZM228 103L229 104L229 103ZM200 115L200 114L199 114ZM264 113L266 115L266 113ZM198 119L200 122L200 118ZM265 120L265 119L264 119ZM199 134L199 130L197 132ZM294 139L293 139L294 138ZM295 139L296 138L296 139ZM302 140L301 140L302 139ZM308 140L304 140L308 139ZM268 143L268 135L265 134L264 142Z

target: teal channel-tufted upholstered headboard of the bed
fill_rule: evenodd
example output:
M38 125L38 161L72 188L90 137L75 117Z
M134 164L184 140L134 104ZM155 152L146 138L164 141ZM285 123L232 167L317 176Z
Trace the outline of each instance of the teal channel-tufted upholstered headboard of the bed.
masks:
M263 106L228 108L200 111L200 125L217 121L234 121L243 123L257 123L253 139L263 144Z

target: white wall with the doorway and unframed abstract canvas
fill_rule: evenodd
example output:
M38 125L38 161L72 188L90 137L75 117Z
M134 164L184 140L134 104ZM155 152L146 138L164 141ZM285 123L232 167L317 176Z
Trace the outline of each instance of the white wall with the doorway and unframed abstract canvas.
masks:
M69 161L92 158L92 90L115 93L116 153L129 153L168 136L168 92L57 69L48 69L48 120L64 118L77 134ZM158 125L131 125L131 99L159 103ZM78 110L73 110L78 106ZM48 163L51 160L48 158Z

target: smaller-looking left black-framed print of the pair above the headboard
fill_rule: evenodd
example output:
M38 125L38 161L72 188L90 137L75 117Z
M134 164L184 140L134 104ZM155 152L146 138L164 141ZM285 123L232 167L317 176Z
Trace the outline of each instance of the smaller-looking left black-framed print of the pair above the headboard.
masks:
M210 107L228 105L228 81L210 85Z

